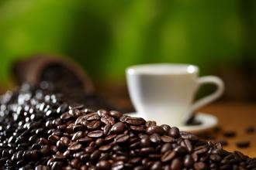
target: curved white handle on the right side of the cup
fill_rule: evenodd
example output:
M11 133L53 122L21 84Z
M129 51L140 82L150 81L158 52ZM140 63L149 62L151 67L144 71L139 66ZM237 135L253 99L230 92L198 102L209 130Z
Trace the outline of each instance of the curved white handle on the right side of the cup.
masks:
M199 77L198 79L198 83L199 83L199 87L201 87L203 84L206 84L206 83L213 83L216 85L216 91L212 94L209 94L208 96L206 97L203 97L202 99L199 99L197 101L195 101L194 104L192 104L192 107L191 107L191 113L194 112L195 110L199 109L199 107L203 107L205 106L206 104L209 104L211 103L213 100L216 100L217 98L219 98L223 91L224 91L224 83L223 83L223 80L221 80L219 77L217 76L202 76L202 77Z

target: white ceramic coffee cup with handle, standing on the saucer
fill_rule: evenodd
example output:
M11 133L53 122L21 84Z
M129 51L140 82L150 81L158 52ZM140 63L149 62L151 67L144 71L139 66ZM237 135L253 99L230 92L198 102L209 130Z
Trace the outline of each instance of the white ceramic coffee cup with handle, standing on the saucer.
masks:
M189 64L143 64L126 69L133 106L140 117L157 124L181 126L190 114L221 96L223 81L217 76L199 77L199 68ZM202 84L213 83L216 91L195 101Z

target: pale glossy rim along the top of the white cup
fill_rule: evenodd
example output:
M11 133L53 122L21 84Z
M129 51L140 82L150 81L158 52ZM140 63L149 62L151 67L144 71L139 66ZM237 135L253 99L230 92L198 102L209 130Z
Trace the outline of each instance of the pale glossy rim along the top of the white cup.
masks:
M157 72L156 69L159 66L168 66L168 67L184 67L183 71L171 71L171 70L164 70ZM151 67L150 71L143 70L145 68ZM144 75L161 75L161 74L193 74L193 73L198 73L199 72L199 67L195 66L193 64L189 63L144 63L144 64L138 64L138 65L133 65L133 66L128 66L126 68L126 74L144 74Z

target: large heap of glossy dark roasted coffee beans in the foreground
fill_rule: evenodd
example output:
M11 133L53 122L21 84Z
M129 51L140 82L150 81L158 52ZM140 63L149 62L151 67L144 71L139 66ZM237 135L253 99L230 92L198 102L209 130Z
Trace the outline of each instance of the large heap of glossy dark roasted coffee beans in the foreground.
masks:
M256 169L256 158L24 84L1 99L0 169Z

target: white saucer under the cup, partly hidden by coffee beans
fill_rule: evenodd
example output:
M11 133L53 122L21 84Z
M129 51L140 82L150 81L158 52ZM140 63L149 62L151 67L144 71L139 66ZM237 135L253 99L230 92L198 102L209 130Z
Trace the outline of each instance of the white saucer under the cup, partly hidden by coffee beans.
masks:
M133 117L141 117L138 113L127 113L129 116ZM202 122L202 124L199 125L189 125L189 126L178 126L180 131L188 131L194 134L199 134L204 131L209 131L210 129L216 127L218 124L218 118L213 116L212 114L206 114L206 113L198 113L195 114L195 120ZM169 124L171 126L171 124Z

